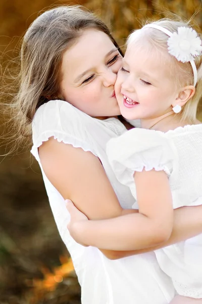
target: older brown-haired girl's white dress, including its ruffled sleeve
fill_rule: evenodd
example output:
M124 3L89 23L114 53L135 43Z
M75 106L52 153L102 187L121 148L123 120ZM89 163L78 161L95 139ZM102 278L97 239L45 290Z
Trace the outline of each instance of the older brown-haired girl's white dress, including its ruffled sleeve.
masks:
M155 253L109 260L95 247L77 244L67 230L69 213L63 197L45 176L38 147L54 136L59 141L81 147L97 156L108 175L120 204L132 208L134 198L109 165L106 143L126 131L111 118L105 121L89 117L61 100L48 101L36 111L33 124L32 154L38 161L59 233L71 254L81 285L82 304L166 304L174 297L171 279L160 269ZM109 202L110 203L110 202Z

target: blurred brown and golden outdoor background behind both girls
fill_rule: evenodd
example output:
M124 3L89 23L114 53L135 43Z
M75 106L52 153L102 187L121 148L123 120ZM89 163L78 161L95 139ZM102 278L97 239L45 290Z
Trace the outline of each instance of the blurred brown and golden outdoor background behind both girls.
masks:
M40 12L66 4L80 4L95 12L111 25L120 45L142 20L162 18L169 11L189 19L200 8L200 0L1 0L2 65L18 55L20 38ZM194 16L199 27L201 17L200 11ZM202 118L201 111L198 117ZM8 130L3 116L0 120L3 134ZM6 144L1 139L1 155L5 154ZM79 304L80 287L73 265L58 234L29 147L18 155L2 156L0 161L0 303Z

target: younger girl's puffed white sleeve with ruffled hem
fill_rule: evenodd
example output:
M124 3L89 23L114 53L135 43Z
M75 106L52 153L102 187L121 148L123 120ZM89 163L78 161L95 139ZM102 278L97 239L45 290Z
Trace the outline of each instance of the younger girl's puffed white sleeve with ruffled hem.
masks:
M154 130L135 128L112 138L107 143L107 155L117 179L130 187L135 171L164 170L170 177L178 166L172 139Z

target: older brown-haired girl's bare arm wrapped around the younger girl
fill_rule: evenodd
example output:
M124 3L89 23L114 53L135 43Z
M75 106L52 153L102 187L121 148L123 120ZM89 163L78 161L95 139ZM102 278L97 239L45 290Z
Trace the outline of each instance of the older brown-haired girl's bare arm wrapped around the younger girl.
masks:
M39 147L40 161L47 178L66 199L89 219L109 219L124 212L120 207L105 170L90 152L59 143L50 138ZM202 206L181 207L174 210L173 231L168 240L140 250L102 250L111 259L155 250L202 233Z

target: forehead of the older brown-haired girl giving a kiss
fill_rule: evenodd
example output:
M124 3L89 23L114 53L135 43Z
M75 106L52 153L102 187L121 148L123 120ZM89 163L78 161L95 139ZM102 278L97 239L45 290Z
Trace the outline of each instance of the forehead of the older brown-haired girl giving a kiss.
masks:
M71 71L72 77L83 71L94 68L105 60L106 54L115 48L110 37L96 29L86 29L78 41L68 49L62 60L62 74Z

